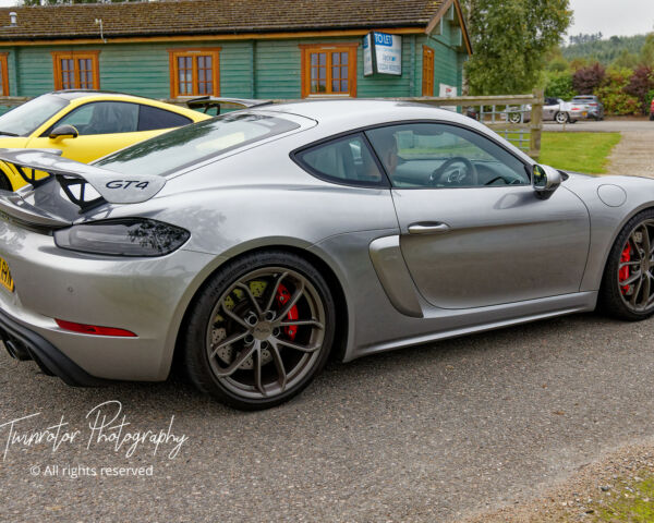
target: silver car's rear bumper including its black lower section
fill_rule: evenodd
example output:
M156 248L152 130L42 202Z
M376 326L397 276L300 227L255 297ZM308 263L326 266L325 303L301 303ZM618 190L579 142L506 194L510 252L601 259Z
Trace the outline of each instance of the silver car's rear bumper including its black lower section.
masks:
M219 263L214 255L184 250L156 258L84 255L1 219L0 257L15 283L14 292L0 287L0 331L72 385L166 379L184 312ZM73 332L55 318L121 328L136 337Z

